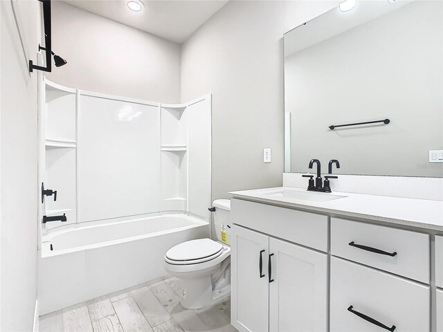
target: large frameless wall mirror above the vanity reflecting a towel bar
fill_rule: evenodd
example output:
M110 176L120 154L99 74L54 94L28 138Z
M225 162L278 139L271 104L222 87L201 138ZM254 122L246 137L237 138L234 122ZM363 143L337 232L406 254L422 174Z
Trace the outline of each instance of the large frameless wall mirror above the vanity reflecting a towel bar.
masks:
M443 2L357 0L286 33L284 109L285 172L318 158L323 172L338 159L337 174L442 177L429 151L443 149Z

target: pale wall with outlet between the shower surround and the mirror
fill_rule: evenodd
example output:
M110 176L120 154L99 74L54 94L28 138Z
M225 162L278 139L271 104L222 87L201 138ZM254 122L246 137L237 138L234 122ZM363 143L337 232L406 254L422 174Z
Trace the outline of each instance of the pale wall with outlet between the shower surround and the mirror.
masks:
M283 34L337 3L230 1L183 44L181 100L213 94L213 199L282 185Z

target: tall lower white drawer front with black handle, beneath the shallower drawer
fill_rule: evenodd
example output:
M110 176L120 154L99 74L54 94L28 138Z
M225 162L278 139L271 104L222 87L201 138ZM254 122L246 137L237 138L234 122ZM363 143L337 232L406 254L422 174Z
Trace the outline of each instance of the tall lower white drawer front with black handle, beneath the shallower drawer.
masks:
M429 286L332 257L330 331L426 332L430 315Z

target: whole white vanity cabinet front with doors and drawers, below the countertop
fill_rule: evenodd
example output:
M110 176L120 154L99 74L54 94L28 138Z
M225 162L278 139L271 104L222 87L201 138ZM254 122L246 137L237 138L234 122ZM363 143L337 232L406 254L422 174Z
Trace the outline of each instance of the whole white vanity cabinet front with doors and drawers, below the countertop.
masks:
M440 233L297 209L231 201L236 329L443 332Z

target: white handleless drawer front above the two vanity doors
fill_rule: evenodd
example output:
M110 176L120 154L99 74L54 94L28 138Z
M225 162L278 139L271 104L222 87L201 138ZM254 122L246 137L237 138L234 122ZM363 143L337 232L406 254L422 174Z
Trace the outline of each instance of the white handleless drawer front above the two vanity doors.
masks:
M327 251L327 216L239 199L231 200L230 216L237 225Z

